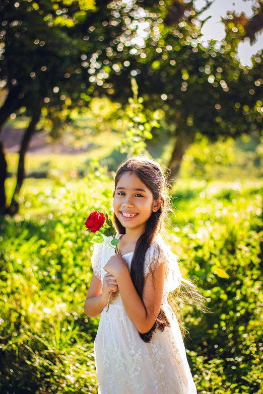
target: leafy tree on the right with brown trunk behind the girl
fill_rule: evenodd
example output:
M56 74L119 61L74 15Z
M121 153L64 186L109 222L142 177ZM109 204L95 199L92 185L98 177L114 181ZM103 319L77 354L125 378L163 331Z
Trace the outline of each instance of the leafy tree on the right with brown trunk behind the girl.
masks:
M108 67L107 78L102 83L94 74L92 82L101 95L110 94L125 102L131 93L127 82L135 76L145 107L163 109L168 133L176 135L168 164L172 179L177 177L182 155L197 132L213 141L229 135L236 138L243 133L261 133L262 113L256 108L261 99L258 87L262 58L257 56L249 69L235 57L245 32L243 16L224 21L226 39L221 46L212 41L206 48L193 9L184 9L179 21L169 26L164 23L171 20L167 17L169 7L160 3L150 4L143 11L137 4L128 11L121 2L110 4L109 24L120 29L123 21L125 26L118 34L114 30L110 48L101 47L98 58ZM140 23L144 27L140 28ZM94 32L98 28L94 23ZM138 37L140 29L145 42Z

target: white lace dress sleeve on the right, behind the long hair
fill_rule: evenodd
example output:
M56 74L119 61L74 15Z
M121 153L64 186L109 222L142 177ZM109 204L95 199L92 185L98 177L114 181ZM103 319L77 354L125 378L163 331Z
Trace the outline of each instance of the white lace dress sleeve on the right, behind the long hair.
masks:
M166 265L165 281L167 283L168 292L175 290L181 283L181 272L179 268L179 257L175 255L169 247L162 243L155 243L150 246L146 253L144 264L144 275L159 267L161 263Z

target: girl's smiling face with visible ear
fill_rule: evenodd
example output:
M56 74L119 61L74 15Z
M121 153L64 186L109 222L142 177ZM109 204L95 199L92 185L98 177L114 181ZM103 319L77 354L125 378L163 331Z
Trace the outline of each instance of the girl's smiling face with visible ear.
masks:
M114 213L124 227L137 228L160 208L150 189L132 172L121 175L114 194Z

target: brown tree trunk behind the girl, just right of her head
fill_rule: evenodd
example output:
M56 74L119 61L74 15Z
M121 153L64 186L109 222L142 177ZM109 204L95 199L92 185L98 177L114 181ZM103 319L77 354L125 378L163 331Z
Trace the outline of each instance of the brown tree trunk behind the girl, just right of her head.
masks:
M177 133L171 160L168 165L168 168L171 170L171 174L168 179L169 182L175 181L178 178L182 156L192 141L192 134L186 133L185 131L180 131Z

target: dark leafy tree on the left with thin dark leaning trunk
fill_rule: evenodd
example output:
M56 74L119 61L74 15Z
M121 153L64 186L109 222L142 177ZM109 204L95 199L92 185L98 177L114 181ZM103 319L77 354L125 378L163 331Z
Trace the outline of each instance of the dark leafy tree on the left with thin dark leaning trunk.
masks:
M100 2L98 2L100 3ZM102 2L103 3L103 2ZM0 131L12 113L21 107L31 117L20 148L17 185L9 213L17 211L17 195L24 179L24 157L40 115L49 118L53 134L67 122L74 108L85 107L90 87L85 69L97 48L97 37L87 34L93 13L99 12L92 0L37 3L5 2L2 13L2 55L0 78L6 83L7 97L0 109ZM101 13L103 18L103 13ZM80 25L80 27L78 26ZM95 61L95 57L92 58ZM58 93L59 92L59 93ZM56 113L56 115L54 115ZM3 149L0 161L4 162ZM5 211L5 177L0 179L0 211Z

